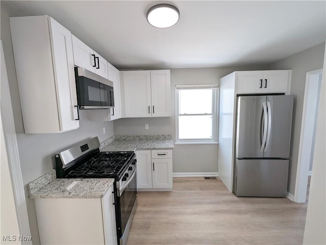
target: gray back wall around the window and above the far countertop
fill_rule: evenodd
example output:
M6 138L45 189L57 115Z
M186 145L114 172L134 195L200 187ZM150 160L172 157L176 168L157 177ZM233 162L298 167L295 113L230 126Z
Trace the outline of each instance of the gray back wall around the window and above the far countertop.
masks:
M236 70L265 69L256 67L171 69L171 118L132 118L114 122L114 134L172 134L176 139L175 86L185 84L219 84L220 78ZM145 123L149 129L145 129ZM175 145L174 173L218 172L218 145Z

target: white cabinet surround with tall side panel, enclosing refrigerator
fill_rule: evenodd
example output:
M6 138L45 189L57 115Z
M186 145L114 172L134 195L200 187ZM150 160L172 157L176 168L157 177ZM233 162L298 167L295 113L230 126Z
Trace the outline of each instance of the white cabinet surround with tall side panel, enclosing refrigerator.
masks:
M291 70L235 71L220 80L219 178L232 192L236 125L236 96L290 94Z

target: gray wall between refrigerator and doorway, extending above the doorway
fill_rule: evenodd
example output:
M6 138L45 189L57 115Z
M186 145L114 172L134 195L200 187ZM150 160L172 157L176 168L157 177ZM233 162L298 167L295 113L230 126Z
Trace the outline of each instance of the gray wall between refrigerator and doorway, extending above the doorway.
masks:
M295 188L306 73L322 68L324 51L325 43L321 43L269 66L270 70L292 70L291 94L294 95L294 104L288 179L288 192L292 195Z

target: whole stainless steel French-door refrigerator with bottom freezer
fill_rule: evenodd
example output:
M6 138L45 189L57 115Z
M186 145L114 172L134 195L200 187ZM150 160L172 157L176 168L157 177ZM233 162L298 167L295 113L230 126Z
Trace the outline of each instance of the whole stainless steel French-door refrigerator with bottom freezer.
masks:
M292 95L237 97L236 196L286 196L292 111Z

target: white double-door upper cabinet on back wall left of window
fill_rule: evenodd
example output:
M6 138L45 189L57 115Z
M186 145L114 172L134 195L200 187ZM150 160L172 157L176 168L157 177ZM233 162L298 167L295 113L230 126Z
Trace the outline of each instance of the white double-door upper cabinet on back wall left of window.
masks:
M170 70L123 71L125 117L171 117Z

